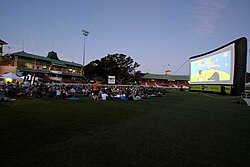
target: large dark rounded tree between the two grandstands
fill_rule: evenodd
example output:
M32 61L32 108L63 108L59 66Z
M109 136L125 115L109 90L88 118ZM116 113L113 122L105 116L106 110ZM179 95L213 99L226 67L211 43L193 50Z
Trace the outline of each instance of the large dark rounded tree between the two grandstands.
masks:
M105 79L109 75L115 76L118 84L131 81L138 77L140 71L136 71L140 64L134 62L134 60L124 54L109 54L101 60L95 60L90 62L84 67L84 75L87 78L94 78L101 76Z

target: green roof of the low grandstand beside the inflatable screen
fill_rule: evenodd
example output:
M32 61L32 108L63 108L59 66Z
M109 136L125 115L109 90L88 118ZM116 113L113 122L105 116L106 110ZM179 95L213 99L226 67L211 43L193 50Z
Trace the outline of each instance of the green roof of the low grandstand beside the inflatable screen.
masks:
M165 74L150 74L147 73L142 79L161 79L161 80L176 80L176 81L188 81L188 75L165 75Z

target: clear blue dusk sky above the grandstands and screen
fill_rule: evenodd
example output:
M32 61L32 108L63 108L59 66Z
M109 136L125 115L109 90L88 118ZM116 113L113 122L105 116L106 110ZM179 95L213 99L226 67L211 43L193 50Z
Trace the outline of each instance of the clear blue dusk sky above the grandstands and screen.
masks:
M60 59L81 64L82 29L90 32L86 63L122 53L141 64L138 70L156 74L166 69L189 74L188 62L179 69L189 57L250 39L249 0L0 0L0 5L0 39L10 47L5 52L21 51L24 43L26 52L47 56L54 50Z

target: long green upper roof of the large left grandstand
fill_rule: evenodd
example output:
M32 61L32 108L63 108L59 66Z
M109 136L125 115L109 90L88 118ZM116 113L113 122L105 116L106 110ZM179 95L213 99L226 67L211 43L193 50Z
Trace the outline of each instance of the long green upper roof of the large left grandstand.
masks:
M82 65L78 64L78 63L64 61L64 60L51 59L51 58L48 58L48 57L45 57L45 56L40 56L40 55L26 53L24 51L12 53L11 55L17 55L17 56L25 57L25 58L31 58L31 59L48 61L48 62L51 62L53 65L59 65L59 66L66 66L66 65L68 65L68 66L72 66L72 67L82 68Z

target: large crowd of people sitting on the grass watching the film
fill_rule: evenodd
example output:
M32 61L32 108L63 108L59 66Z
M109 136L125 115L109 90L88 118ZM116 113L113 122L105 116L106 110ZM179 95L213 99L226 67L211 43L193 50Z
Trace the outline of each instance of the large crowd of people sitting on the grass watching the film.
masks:
M164 96L167 91L161 88L142 86L115 86L94 84L11 84L0 86L0 100L19 97L61 98L90 97L94 100L142 100L150 96Z

